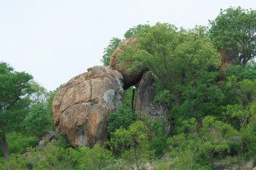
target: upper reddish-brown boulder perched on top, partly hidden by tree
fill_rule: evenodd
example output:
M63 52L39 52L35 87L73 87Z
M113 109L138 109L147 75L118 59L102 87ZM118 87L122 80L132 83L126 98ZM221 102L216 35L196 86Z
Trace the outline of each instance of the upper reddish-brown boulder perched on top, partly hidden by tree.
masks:
M121 42L121 44L118 46L118 48L115 49L113 54L110 56L110 66L113 70L119 71L123 77L124 77L124 88L129 88L134 84L137 84L143 76L144 71L143 70L137 70L137 72L128 72L125 70L125 68L121 65L119 65L118 62L118 54L123 51L122 45L132 45L136 41L136 38L131 37L129 39L124 40ZM131 65L131 63L127 63L127 66Z

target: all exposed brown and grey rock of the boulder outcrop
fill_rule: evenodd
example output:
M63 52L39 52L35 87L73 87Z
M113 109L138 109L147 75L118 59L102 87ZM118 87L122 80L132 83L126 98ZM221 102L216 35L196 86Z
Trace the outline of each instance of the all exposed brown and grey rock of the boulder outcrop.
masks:
M53 102L54 122L57 132L67 133L73 146L103 144L107 139L108 114L122 105L124 89L137 86L134 110L167 122L166 109L154 104L154 76L139 70L128 72L119 64L118 56L123 45L136 48L136 38L127 39L110 57L110 66L95 66L63 85ZM219 51L222 56L221 71L237 63L236 53ZM131 63L127 63L127 66ZM221 80L223 82L223 80ZM220 82L221 82L220 81ZM170 131L166 123L166 134Z

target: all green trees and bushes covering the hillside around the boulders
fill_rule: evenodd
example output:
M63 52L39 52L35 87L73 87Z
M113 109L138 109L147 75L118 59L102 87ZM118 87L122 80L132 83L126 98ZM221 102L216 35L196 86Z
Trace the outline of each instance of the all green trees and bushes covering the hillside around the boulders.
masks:
M133 111L128 88L124 105L108 116L102 147L71 148L64 133L35 147L52 127L56 91L1 63L0 135L11 156L0 159L0 169L252 169L246 164L256 162L255 10L221 10L210 26L184 30L157 23L125 32L136 41L122 47L118 61L154 76L154 102L166 108L166 120ZM113 38L105 48L104 65L120 42ZM239 50L241 65L220 72L219 49Z

